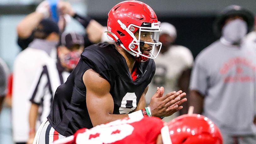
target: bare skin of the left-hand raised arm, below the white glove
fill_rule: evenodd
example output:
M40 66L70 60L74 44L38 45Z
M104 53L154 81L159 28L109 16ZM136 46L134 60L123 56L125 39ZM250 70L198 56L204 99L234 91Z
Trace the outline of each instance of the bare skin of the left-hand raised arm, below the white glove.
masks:
M19 38L28 38L43 18L44 15L42 13L33 12L22 19L17 26Z

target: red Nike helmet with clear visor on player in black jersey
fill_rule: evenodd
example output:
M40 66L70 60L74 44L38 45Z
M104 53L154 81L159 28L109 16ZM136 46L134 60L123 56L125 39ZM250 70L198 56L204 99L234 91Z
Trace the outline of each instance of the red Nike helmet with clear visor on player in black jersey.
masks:
M148 58L156 58L161 49L159 42L160 22L152 8L139 1L124 1L115 5L108 14L108 36L132 54L137 61L145 62ZM134 33L138 30L138 39ZM150 32L151 41L140 40L141 32ZM140 47L148 44L152 50L148 55L140 51ZM158 47L158 53L153 54Z

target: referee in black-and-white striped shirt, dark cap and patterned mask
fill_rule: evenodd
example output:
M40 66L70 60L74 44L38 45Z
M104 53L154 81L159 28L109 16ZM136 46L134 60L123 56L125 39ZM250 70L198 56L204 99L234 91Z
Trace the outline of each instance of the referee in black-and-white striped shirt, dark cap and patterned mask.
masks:
M29 140L31 144L36 128L50 113L53 96L58 86L63 84L75 68L84 48L83 36L76 33L63 33L57 47L57 62L49 60L39 70L31 87L31 108L29 113Z

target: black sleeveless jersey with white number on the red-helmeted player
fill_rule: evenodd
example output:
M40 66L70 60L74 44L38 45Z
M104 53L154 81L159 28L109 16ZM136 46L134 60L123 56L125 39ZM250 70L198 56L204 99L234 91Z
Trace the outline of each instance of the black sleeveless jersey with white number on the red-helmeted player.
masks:
M48 121L63 136L73 135L81 128L92 128L86 107L86 87L82 80L93 69L110 84L114 100L113 114L128 114L136 108L142 93L155 73L153 59L137 63L138 77L132 80L125 58L113 44L99 43L85 48L76 68L55 92ZM101 108L97 108L101 109Z

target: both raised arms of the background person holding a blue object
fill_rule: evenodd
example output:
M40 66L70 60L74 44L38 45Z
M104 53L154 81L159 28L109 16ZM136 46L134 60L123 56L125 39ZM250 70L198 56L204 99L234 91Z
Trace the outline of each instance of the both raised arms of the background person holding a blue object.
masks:
M104 27L102 25L88 16L81 16L80 14L77 14L71 7L70 3L59 1L57 7L59 14L58 26L61 33L64 32L67 22L70 17L72 17L76 19L86 30L86 34L84 35L85 47L107 39L107 35L103 33ZM34 30L38 26L39 22L42 19L49 17L50 5L49 1L45 0L38 5L35 12L27 15L20 21L17 26L17 33L18 44L22 49L28 47L29 43L35 38Z

